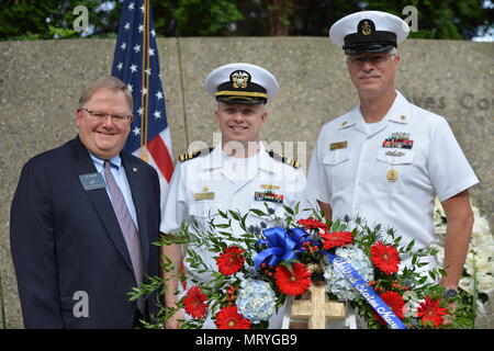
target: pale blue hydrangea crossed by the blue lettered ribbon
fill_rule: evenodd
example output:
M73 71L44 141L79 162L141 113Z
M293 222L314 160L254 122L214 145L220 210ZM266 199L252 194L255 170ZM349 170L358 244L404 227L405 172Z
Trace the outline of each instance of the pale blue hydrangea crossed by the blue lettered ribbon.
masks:
M374 279L372 263L367 254L359 248L338 248L336 256L345 259L366 282ZM324 269L326 279L326 291L335 294L340 301L350 301L359 296L351 283L332 263Z

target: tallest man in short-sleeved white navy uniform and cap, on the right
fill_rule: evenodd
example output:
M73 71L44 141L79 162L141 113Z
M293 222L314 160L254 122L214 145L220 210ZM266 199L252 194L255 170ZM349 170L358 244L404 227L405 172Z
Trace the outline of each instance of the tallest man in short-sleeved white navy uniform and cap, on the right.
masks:
M403 242L435 239L434 199L446 212L447 297L458 282L473 225L469 189L479 182L445 117L409 103L394 87L408 25L380 11L337 21L330 41L343 47L359 103L323 126L307 171L306 194L328 218L357 216L393 227ZM350 225L352 222L350 222ZM429 263L435 264L433 260Z

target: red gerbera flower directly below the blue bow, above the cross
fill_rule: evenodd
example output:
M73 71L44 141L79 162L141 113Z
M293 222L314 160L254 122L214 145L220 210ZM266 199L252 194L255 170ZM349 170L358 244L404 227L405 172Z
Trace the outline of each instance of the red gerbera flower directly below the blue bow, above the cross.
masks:
M302 295L311 285L311 272L302 263L293 263L291 271L284 265L278 265L274 279L280 291L290 296Z

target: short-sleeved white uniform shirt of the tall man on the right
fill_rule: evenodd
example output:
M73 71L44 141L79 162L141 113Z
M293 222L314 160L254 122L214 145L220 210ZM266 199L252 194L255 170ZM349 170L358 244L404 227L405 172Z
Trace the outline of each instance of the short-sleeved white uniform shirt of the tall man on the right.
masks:
M372 132L360 104L324 125L307 172L306 196L329 204L334 219L360 216L369 226L396 229L402 245L415 239L415 249L426 248L435 239L434 197L442 202L479 180L446 120L396 93ZM384 148L394 133L406 133L413 147ZM346 147L330 150L340 141ZM397 172L395 182L388 180L391 169Z

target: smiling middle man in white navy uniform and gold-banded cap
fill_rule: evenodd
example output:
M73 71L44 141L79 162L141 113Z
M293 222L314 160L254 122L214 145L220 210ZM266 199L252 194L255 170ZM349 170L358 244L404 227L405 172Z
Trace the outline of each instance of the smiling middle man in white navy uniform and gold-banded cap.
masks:
M305 186L305 174L294 160L287 159L265 149L259 140L259 132L268 118L265 104L278 90L273 75L250 64L229 64L214 69L205 79L207 92L216 99L214 120L222 133L222 143L212 149L180 156L175 169L165 208L160 231L170 234L180 228L183 220L197 220L200 229L206 233L207 222L217 217L218 210L238 210L247 214L249 208L266 212L265 203L278 217L284 217L284 206L293 207L301 201ZM247 227L276 225L266 218L251 214ZM232 222L234 235L242 235L238 223ZM209 273L198 273L184 261L183 248L168 246L162 254L172 260L176 267L184 263L186 274L199 281L207 281ZM195 248L202 259L216 269L214 253ZM175 292L178 284L175 272L167 274L166 302L175 306L178 298ZM189 283L189 287L190 287ZM270 328L281 327L282 308L270 320ZM166 328L179 328L180 319L187 318L178 312L167 321ZM203 328L214 328L211 316Z

